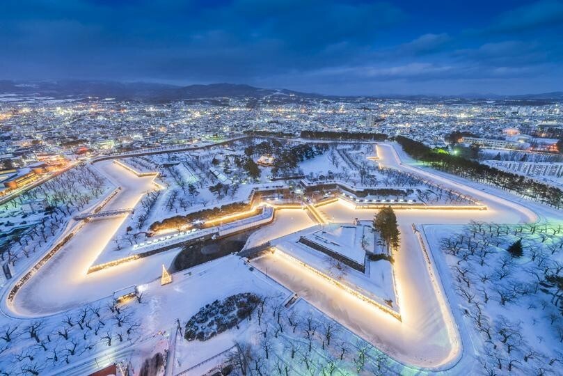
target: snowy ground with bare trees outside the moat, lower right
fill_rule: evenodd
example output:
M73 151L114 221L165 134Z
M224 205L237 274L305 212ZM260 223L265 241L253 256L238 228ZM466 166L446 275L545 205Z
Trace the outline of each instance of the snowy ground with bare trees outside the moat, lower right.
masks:
M456 320L468 328L466 354L481 373L559 374L563 319L553 299L557 288L543 278L563 265L563 237L559 224L547 228L490 222L421 226L430 248L441 250L434 259L443 283L451 286L446 292ZM443 240L459 244L450 249ZM516 240L523 240L521 257L507 252Z

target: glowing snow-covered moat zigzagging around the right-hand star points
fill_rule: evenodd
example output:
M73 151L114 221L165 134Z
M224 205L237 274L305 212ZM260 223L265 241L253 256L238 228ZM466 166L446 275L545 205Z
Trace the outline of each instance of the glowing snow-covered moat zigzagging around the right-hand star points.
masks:
M397 169L413 169L400 164L391 146L378 146L380 162ZM415 173L426 173L413 169ZM397 293L403 322L391 321L388 325L373 327L364 323L358 326L365 311L354 304L341 304L340 294L331 285L312 272L299 269L287 260L275 255L268 255L255 262L262 269L268 270L274 278L283 281L292 290L297 290L312 304L364 338L376 338L376 344L388 354L406 363L424 366L440 366L457 361L461 355L461 338L457 333L448 303L441 293L436 292L434 277L429 272L427 261L420 249L420 242L413 233L412 224L466 224L473 220L500 221L503 223L521 223L534 221L537 215L526 207L512 201L511 198L494 196L466 187L447 178L431 175L441 184L459 191L466 191L479 198L487 205L488 210L397 210L399 230L401 231L401 248L394 255L395 273L397 277ZM338 222L351 222L355 218L370 220L376 210L355 210L352 205L341 201L319 208L327 218ZM333 299L338 296L339 299ZM359 304L356 301L356 304ZM365 308L365 307L364 307ZM372 308L372 307L370 307ZM375 317L388 315L373 309ZM377 312L376 312L377 311ZM344 313L345 312L345 313ZM353 315L353 318L350 318ZM368 317L372 317L368 315ZM356 317L357 316L357 317ZM348 318L348 320L347 320ZM409 330L407 330L409 329ZM368 331L366 333L366 331Z

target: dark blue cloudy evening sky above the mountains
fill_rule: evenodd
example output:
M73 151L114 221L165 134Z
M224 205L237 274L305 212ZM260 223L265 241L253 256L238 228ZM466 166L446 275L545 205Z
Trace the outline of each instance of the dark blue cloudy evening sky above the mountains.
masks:
M2 0L0 78L563 90L563 0Z

